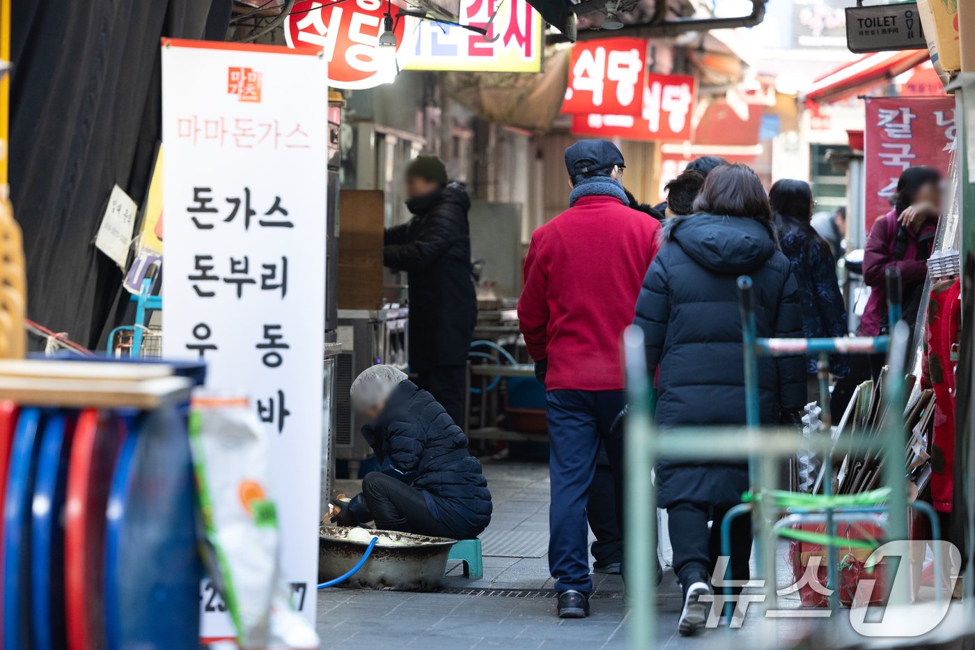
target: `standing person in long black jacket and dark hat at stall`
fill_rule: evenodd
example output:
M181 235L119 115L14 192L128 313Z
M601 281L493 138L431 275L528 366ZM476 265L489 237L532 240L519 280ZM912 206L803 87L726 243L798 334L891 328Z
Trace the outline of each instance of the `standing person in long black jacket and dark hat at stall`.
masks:
M413 218L386 229L383 264L409 273L409 368L463 426L478 309L467 224L471 200L462 184L448 183L440 158L425 154L407 167L407 195Z

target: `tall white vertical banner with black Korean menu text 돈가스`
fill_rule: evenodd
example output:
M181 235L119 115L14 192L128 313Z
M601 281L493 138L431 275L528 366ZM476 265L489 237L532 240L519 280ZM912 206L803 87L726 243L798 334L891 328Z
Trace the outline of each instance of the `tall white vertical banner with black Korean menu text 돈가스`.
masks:
M244 391L271 441L284 579L315 620L325 343L327 61L163 41L163 354ZM205 638L232 637L201 593Z

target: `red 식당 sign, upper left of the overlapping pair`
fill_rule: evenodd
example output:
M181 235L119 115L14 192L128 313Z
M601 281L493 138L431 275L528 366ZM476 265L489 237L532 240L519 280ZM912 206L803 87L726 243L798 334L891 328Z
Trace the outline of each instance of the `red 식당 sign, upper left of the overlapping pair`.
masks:
M564 113L643 114L646 39L601 38L572 46Z

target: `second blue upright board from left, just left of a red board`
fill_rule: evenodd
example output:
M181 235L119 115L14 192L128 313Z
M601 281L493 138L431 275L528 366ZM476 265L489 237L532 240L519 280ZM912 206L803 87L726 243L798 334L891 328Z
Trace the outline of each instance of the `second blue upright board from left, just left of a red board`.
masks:
M30 530L30 617L34 650L60 650L64 636L64 497L72 419L53 411L44 425Z

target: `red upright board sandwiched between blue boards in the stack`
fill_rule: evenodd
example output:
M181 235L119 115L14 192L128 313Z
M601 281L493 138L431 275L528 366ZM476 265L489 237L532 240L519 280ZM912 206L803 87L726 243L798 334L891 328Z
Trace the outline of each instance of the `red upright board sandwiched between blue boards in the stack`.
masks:
M64 517L64 618L69 650L105 647L105 508L119 428L117 421L101 416L98 410L85 409L74 429Z

